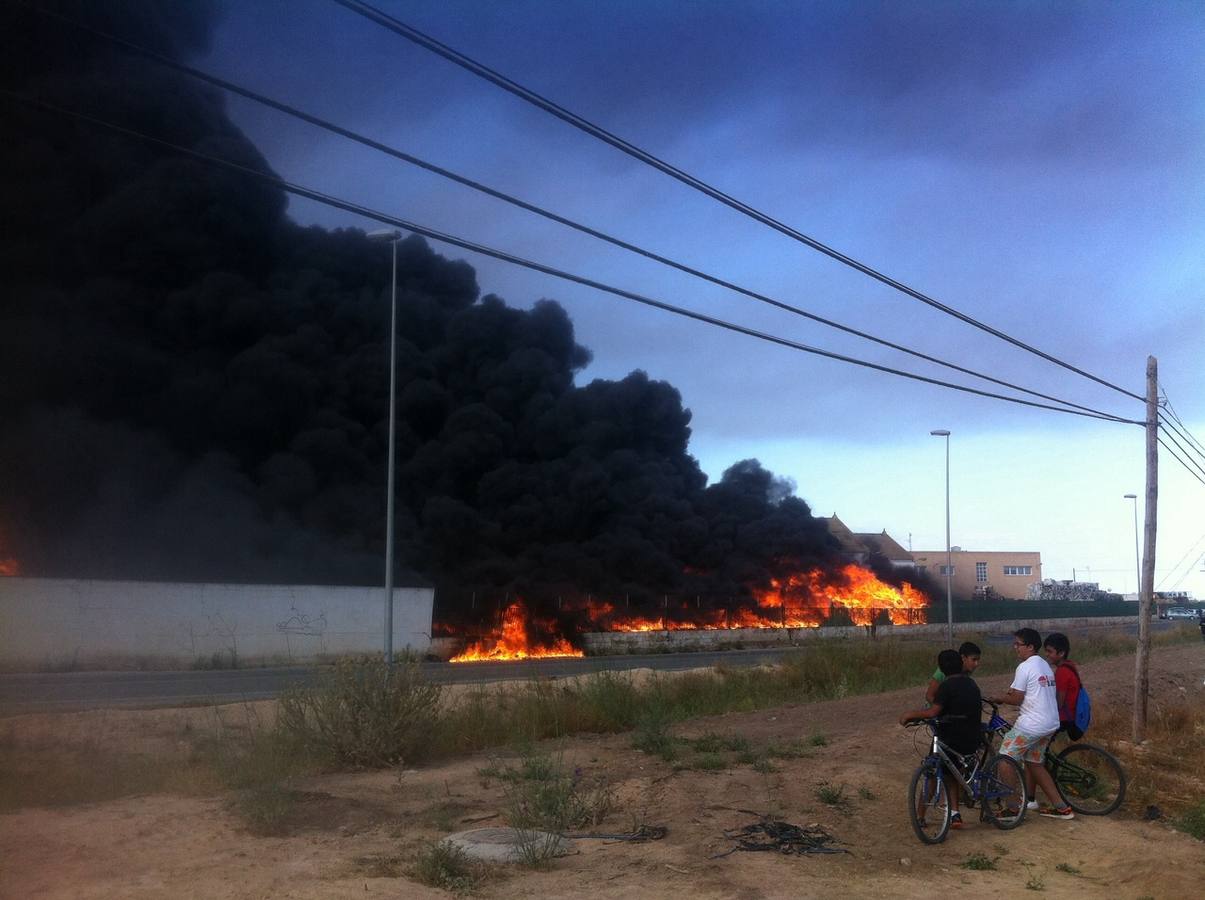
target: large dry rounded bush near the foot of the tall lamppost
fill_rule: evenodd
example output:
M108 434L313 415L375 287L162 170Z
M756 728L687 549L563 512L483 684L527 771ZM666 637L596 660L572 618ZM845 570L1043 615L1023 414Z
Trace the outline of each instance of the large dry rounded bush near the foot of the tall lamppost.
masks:
M331 763L382 767L417 761L429 748L440 687L423 676L418 659L345 659L317 683L281 695L280 733Z

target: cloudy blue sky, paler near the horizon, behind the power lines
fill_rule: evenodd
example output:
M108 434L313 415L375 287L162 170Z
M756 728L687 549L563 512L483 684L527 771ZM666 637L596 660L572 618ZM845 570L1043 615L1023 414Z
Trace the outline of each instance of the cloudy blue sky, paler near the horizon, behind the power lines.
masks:
M1205 6L1197 2L380 0L390 14L1205 440ZM725 208L330 0L227 2L231 81L813 313L1124 418L1141 402ZM231 101L283 177L806 345L997 390L771 310ZM296 199L301 223L374 223ZM776 347L455 248L483 293L565 306L578 377L682 393L718 478L756 457L817 514L918 551L1039 551L1135 584L1142 430ZM1011 392L1004 392L1011 393ZM1205 458L1199 459L1205 465ZM1156 586L1205 598L1205 484L1160 451ZM1178 561L1177 561L1178 560Z

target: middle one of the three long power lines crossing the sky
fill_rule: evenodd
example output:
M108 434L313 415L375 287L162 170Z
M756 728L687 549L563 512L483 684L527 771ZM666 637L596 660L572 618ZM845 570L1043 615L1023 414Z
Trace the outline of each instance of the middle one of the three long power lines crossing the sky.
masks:
M335 123L333 123L333 122L330 122L328 119L321 118L321 117L315 116L312 113L305 112L304 110L294 107L294 106L292 106L289 104L282 102L280 100L274 100L272 98L265 96L264 94L259 94L259 93L257 93L254 90L251 90L249 88L242 87L241 84L236 84L234 82L227 81L225 78L222 78L219 76L212 75L211 72L206 72L206 71L204 71L201 69L196 69L194 66L190 66L190 65L187 65L187 64L181 63L178 60L175 60L171 57L167 57L167 55L165 55L163 53L159 53L157 51L153 51L151 48L143 47L143 46L141 46L139 43L135 43L133 41L128 41L128 40L123 39L123 37L119 37L117 35L110 34L110 33L104 31L101 29L93 28L92 25L87 25L87 24L84 24L82 22L77 22L77 20L75 20L75 19L72 19L72 18L70 18L67 16L63 16L63 14L57 13L57 12L52 12L52 11L48 11L48 10L41 10L40 7L34 7L34 8L36 8L39 12L43 13L48 18L52 18L52 19L54 19L57 22L60 22L60 23L63 23L65 25L69 25L71 28L75 28L77 30L84 31L84 33L87 33L87 34L89 34L89 35L92 35L94 37L108 41L108 42L111 42L111 43L113 43L113 45L116 45L118 47L122 47L123 49L125 49L125 51L128 51L130 53L134 53L134 54L148 58L148 59L151 59L151 60L153 60L153 61L155 61L155 63L158 63L160 65L164 65L164 66L166 66L169 69L172 69L175 71L178 71L178 72L182 72L184 75L188 75L188 76L190 76L193 78L196 78L199 81L202 81L202 82L205 82L207 84L212 84L214 87L222 88L223 90L230 92L231 94L236 94L239 96L246 98L248 100L252 100L252 101L254 101L257 104L260 104L263 106L266 106L269 108L276 110L277 112L282 112L282 113L284 113L287 116L292 116L293 118L296 118L296 119L300 119L302 122L306 122L307 124L315 125L316 128L321 128L321 129L323 129L325 131L329 131L331 134L336 134L336 135L339 135L341 137L346 137L346 139L348 139L351 141L355 141L357 143L360 143L360 145L363 145L365 147L370 147L371 149L375 149L375 151L378 151L381 153L384 153L384 154L387 154L387 155L389 155L389 157L392 157L394 159L398 159L398 160L401 160L401 161L407 163L410 165L417 166L417 167L423 169L425 171L429 171L429 172L431 172L434 175L439 175L440 177L447 178L447 180L453 181L453 182L455 182L458 184L462 184L464 187L468 187L468 188L471 188L471 189L477 190L480 193L483 193L483 194L486 194L488 196L493 196L493 198L495 198L498 200L507 202L507 204L510 204L512 206L516 206L518 208L522 208L522 210L525 210L528 212L535 213L535 214L541 216L541 217L543 217L546 219L549 219L549 220L556 222L558 224L565 225L568 228L571 228L571 229L574 229L576 231L580 231L582 234L589 235L589 236L595 237L598 240L605 241L605 242L611 243L611 245L613 245L616 247L619 247L622 249L629 251L631 253L636 253L636 254L639 254L641 257L645 257L646 259L651 259L651 260L653 260L656 263L659 263L662 265L669 266L671 269L676 269L676 270L678 270L681 272L686 272L687 275L694 276L696 278L701 278L703 281L710 282L710 283L716 284L718 287L725 288L728 290L733 290L733 292L735 292L737 294L741 294L743 296L747 296L750 299L757 300L759 302L764 302L764 304L766 304L769 306L772 306L772 307L776 307L776 308L780 308L780 310L784 310L787 312L794 313L797 316L800 316L803 318L810 319L812 322L817 322L817 323L819 323L822 325L827 325L827 327L836 329L839 331L844 331L845 334L854 335L856 337L860 337L863 340L871 341L872 343L877 343L880 346L888 347L890 349L894 349L894 351L898 351L898 352L901 352L901 353L906 353L906 354L916 357L918 359L923 359L927 363L934 363L936 365L945 366L947 369L951 369L953 371L960 372L963 375L969 375L969 376L971 376L974 378L981 378L981 380L991 382L993 384L999 384L1000 387L1010 388L1012 390L1017 390L1017 392L1021 392L1023 394L1029 394L1030 396L1036 396L1036 398L1040 398L1042 400L1050 400L1050 401L1056 402L1056 404L1063 404L1064 406L1069 406L1069 407L1072 407L1072 408L1076 408L1076 410L1082 410L1084 412L1092 412L1092 413L1095 413L1097 416L1099 416L1100 418L1113 419L1113 420L1117 420L1117 422L1124 422L1125 420L1125 419L1123 419L1123 418L1121 418L1118 416L1112 416L1111 413L1103 412L1103 411L1093 408L1091 406L1084 406L1082 404L1076 404L1076 402L1072 402L1070 400L1063 400L1062 398L1053 396L1051 394L1044 394L1044 393L1041 393L1039 390L1033 390L1030 388L1025 388L1025 387L1022 387L1019 384L1015 384L1012 382L1004 381L1001 378L997 378L997 377L991 376L991 375L984 375L982 372L975 371L972 369L968 369L968 367L958 365L956 363L951 363L951 361L940 359L937 357L933 357L933 355L930 355L928 353L923 353L921 351L912 349L910 347L905 347L905 346L895 343L893 341L888 341L886 339L877 337L877 336L871 335L871 334L869 334L866 331L862 331L862 330L852 328L850 325L841 324L841 323L835 322L833 319L828 319L828 318L825 318L823 316L818 316L816 313L812 313L812 312L809 312L806 310L803 310L803 308L800 308L798 306L793 306L793 305L790 305L788 302L784 302L782 300L776 300L774 298L766 296L766 295L760 294L758 292L754 292L754 290L751 290L748 288L741 287L740 284L735 284L733 282L725 281L725 280L723 280L723 278L721 278L718 276L709 275L707 272L700 271L698 269L694 269L692 266L688 266L688 265L686 265L683 263L676 261L676 260L670 259L668 257L663 257L663 255L657 254L657 253L654 253L654 252L652 252L649 249L646 249L646 248L640 247L637 245L630 243L630 242L624 241L622 239L615 237L615 236L612 236L610 234L606 234L606 233L600 231L598 229L590 228L589 225L584 225L582 223L575 222L575 220L569 219L569 218L566 218L564 216L560 216L560 214L558 214L556 212L552 212L552 211L546 210L543 207L540 207L540 206L537 206L535 204L531 204L529 201L525 201L525 200L522 200L519 198L516 198L516 196L513 196L511 194L507 194L505 192L501 192L501 190L498 190L495 188L492 188L492 187L489 187L487 184L483 184L481 182L474 181L472 178L463 176L463 175L460 175L458 172L454 172L452 170L445 169L445 167L442 167L440 165L436 165L434 163L424 160L424 159L422 159L419 157L416 157L413 154L406 153L405 151L398 149L396 147L393 147L393 146L382 143L380 141L372 140L371 137L368 137L368 136L362 135L359 133L352 131L351 129L347 129L347 128L343 128L341 125L337 125L337 124L335 124Z

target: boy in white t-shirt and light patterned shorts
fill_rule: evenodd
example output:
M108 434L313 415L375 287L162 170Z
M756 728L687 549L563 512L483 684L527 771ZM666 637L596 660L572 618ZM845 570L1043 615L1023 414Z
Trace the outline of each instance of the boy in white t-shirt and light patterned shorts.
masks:
M995 698L994 702L1019 706L1021 711L1017 713L1017 722L1004 736L1000 752L1024 765L1025 796L1029 798L1030 807L1036 805L1036 786L1051 801L1050 807L1041 810L1042 816L1074 819L1075 813L1054 787L1050 771L1042 765L1042 755L1059 725L1054 672L1039 653L1042 637L1038 631L1022 628L1013 633L1013 639L1012 647L1021 665L1017 666L1009 692L1004 696Z

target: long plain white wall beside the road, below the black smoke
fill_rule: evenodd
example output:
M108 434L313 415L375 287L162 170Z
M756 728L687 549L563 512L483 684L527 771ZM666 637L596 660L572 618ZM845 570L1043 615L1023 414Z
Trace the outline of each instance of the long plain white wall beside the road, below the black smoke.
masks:
M395 588L394 647L430 646L431 588ZM305 663L380 652L384 589L0 578L0 667Z

